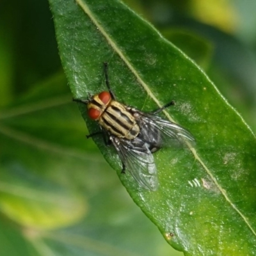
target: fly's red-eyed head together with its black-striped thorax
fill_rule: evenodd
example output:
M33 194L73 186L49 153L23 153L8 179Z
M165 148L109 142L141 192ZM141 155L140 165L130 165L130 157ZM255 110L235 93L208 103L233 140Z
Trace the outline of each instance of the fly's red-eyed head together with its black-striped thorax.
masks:
M118 138L132 140L140 127L127 107L113 100L109 92L96 94L88 101L88 115Z

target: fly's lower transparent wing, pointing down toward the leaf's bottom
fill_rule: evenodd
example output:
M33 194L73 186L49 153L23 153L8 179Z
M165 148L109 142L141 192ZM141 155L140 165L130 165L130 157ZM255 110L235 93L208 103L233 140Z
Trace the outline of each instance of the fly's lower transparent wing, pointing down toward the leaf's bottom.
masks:
M110 139L125 165L125 171L131 173L141 187L156 191L158 188L157 169L154 157L147 145L138 138L124 140L111 136Z

